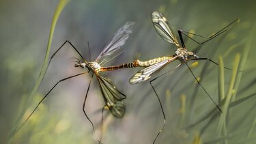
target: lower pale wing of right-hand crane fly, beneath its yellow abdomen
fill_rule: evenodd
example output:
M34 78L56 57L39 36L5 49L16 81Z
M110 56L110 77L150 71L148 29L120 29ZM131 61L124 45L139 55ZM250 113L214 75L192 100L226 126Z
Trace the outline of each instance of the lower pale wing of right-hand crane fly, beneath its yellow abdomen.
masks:
M175 59L176 57L173 57L172 59L155 63L152 66L148 66L147 68L140 70L130 78L129 83L133 85L141 83L142 81L147 81L149 78L151 78L152 74L158 72L161 68L164 68L164 66L166 66L168 63L171 63L171 61L174 61Z

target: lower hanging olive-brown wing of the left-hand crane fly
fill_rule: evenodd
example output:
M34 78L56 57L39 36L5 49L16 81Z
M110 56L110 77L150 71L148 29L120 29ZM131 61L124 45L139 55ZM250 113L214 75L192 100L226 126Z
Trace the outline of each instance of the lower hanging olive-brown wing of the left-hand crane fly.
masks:
M109 79L102 76L98 76L97 79L100 84L100 91L109 111L111 111L114 117L122 118L126 111L126 107L122 100L124 100L126 96L124 93L117 90L115 85Z

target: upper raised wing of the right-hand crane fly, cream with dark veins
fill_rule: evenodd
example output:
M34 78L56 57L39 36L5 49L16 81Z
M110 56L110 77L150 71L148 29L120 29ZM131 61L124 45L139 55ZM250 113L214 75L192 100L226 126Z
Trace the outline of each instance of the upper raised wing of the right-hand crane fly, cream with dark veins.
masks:
M151 18L157 33L165 42L176 44L176 46L179 45L173 30L169 27L167 18L162 13L154 11L151 14Z

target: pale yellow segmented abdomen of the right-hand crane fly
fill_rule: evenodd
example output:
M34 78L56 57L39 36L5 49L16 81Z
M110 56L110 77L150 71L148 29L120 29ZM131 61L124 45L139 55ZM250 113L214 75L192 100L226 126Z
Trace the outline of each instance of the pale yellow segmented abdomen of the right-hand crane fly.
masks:
M173 58L173 56L168 55L168 56L164 56L164 57L157 57L157 58L154 58L154 59L150 59L148 61L140 61L139 59L137 59L136 62L137 62L137 66L147 67L147 66L152 66L152 65L154 65L156 63L159 63L159 62L162 62L162 61L166 61L168 59L172 59L172 58Z

